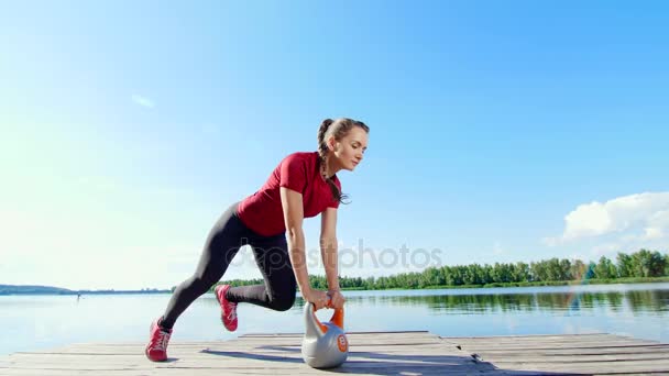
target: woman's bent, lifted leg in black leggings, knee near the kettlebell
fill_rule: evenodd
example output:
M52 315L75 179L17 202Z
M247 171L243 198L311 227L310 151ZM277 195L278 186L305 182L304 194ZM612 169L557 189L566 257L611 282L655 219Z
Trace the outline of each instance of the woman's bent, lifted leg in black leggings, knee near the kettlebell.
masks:
M286 236L281 234L252 239L250 244L265 284L231 287L226 298L232 302L249 302L276 311L290 309L295 303L297 283Z

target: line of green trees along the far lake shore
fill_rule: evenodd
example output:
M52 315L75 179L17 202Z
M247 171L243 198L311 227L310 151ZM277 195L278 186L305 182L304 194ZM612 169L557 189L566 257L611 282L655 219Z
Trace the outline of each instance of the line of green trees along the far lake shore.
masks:
M669 276L669 254L639 250L618 253L615 262L602 256L599 262L550 258L533 263L469 264L428 267L423 272L399 273L382 277L346 277L339 279L343 289L391 289L458 286L522 286L524 284L612 280L618 278L652 278ZM325 276L309 276L311 286L327 289ZM233 279L226 284L245 286L263 284L263 279Z

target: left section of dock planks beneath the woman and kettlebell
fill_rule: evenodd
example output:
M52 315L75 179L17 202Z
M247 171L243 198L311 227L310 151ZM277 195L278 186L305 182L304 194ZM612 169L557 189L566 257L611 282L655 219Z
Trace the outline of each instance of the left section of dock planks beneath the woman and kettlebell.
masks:
M370 375L442 375L494 371L427 332L355 333L349 360L338 372ZM8 375L314 375L301 360L301 335L239 338L169 346L171 362L151 363L143 343L76 344L51 352L17 353Z

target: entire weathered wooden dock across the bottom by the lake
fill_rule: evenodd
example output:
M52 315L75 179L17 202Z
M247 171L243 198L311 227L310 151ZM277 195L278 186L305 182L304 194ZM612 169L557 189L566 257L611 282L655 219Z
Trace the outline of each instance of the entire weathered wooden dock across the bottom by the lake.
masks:
M612 334L440 338L418 332L351 332L338 368L304 364L301 334L246 334L178 342L152 363L144 343L75 344L0 357L0 375L669 375L669 344Z

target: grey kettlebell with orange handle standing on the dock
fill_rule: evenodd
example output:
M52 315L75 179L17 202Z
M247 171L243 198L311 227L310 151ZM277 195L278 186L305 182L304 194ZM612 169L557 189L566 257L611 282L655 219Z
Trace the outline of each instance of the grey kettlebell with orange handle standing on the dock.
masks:
M328 303L329 306L329 303ZM301 357L314 368L332 368L349 356L349 340L343 331L343 309L334 309L329 322L321 323L314 305L305 305L305 336L301 340Z

